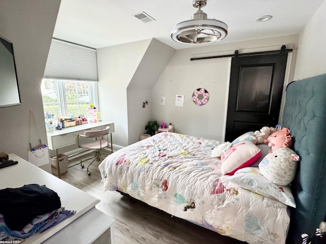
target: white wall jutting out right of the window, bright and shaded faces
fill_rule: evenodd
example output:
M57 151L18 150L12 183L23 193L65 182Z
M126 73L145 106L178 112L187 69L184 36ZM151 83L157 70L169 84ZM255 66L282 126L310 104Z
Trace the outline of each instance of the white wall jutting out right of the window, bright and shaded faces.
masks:
M150 102L174 51L156 39L97 49L99 108L102 120L115 123L114 146L127 146L144 133L151 111L143 102Z

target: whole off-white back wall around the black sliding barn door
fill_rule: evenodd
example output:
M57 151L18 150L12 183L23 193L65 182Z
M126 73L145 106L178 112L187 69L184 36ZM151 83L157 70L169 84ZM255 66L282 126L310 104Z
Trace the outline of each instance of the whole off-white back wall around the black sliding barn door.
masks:
M294 49L292 57L295 60L297 43L298 35L289 35L177 50L153 87L152 117L172 123L175 131L182 134L224 140L230 58L194 61L190 58L233 54L234 50L239 53L276 50L284 44ZM294 64L291 64L290 80ZM203 106L192 101L194 90L200 87L210 94L208 103ZM175 106L177 94L185 96L183 107ZM159 105L161 96L166 97L164 106Z

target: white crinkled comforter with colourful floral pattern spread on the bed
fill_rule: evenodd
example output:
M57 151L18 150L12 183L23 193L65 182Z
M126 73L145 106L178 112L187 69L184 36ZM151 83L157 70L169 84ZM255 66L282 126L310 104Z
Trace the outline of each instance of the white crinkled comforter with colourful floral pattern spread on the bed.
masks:
M211 157L220 143L159 133L129 145L99 165L104 190L248 243L285 243L287 206L228 182Z

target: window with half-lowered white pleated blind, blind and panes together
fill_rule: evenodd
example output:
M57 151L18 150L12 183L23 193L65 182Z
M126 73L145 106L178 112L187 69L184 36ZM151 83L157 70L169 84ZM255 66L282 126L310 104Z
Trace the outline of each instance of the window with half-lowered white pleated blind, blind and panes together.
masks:
M86 115L98 106L97 81L96 49L53 38L41 84L44 116Z

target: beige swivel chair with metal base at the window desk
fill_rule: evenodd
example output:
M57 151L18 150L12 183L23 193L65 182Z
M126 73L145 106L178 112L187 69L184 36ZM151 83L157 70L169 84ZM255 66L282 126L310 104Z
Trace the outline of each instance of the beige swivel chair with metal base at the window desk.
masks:
M104 147L107 147L108 146L108 134L110 133L110 127L106 127L105 129L102 129L102 130L96 130L96 131L85 131L84 132L84 135L78 135L77 136L77 141L78 141L78 147L81 147L81 148L85 148L85 149L95 149L95 157L92 157L92 158L89 158L89 159L83 159L83 160L80 160L80 166L82 166L82 168L84 168L84 164L83 162L87 161L87 160L90 160L90 159L93 159L94 160L88 165L87 167L87 174L90 175L91 172L88 170L89 167L91 166L91 164L97 160L97 161L100 161L100 160L103 160L103 158L101 158L101 155L100 155L100 150ZM103 137L106 136L106 140L103 139ZM88 143L83 143L83 144L80 144L79 143L79 137L88 137L88 138L92 138L92 141L88 142ZM95 141L94 141L94 138L95 138Z

